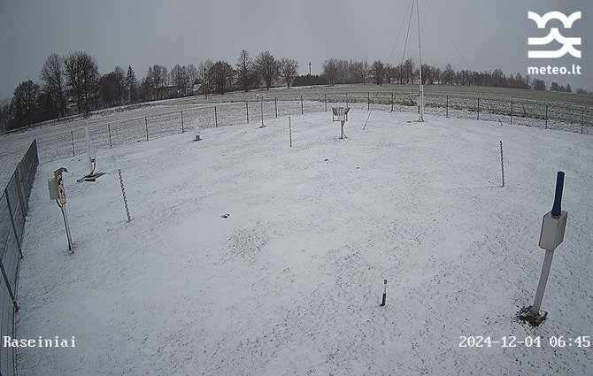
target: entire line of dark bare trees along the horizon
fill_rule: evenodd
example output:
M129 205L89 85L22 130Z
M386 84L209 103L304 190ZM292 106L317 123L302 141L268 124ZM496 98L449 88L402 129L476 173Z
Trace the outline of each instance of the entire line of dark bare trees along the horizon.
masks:
M423 64L422 83L491 86L546 90L543 80L530 79L520 73L506 76L500 69L486 72L455 71L451 64L441 70ZM415 84L420 81L420 69L412 58L399 65L374 60L352 61L330 58L323 62L320 75L298 75L298 63L289 58L274 58L261 51L251 58L242 50L235 65L224 60L207 59L199 65L151 65L138 81L131 65L124 70L119 65L112 72L101 74L96 59L85 51L71 51L61 57L52 53L45 59L39 74L41 82L22 81L14 88L12 98L0 101L0 131L30 127L35 123L61 119L73 114L89 114L102 108L137 104L182 96L225 94L228 91L274 85L336 85L336 84ZM570 85L551 90L572 92ZM582 88L576 94L593 95Z

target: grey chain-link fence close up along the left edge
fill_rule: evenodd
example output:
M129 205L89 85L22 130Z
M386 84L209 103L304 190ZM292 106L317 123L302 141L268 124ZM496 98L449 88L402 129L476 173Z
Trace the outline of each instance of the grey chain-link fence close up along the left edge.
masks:
M34 140L0 196L0 336L3 339L3 346L0 347L0 376L17 374L16 349L4 346L4 336L14 338L14 315L19 311L19 262L23 257L20 244L38 164L37 142Z

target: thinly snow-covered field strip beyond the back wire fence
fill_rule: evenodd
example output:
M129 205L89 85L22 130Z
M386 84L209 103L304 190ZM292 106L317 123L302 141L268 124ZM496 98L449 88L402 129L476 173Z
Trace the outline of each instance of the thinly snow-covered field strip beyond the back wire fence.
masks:
M367 90L362 91L364 88ZM486 92L466 87L451 90L442 85L427 88L426 119L430 116L466 118L593 134L593 98L589 96L492 88L486 88ZM417 103L418 88L405 85L290 88L135 104L93 112L87 121L90 141L97 148L106 149L190 129L194 132L200 128L260 123L262 112L264 121L331 111L335 106L417 113ZM411 114L411 119L414 116ZM46 122L28 129L26 132L32 134L23 142L30 142L35 136L42 161L73 157L86 152L84 125L85 120L80 116Z

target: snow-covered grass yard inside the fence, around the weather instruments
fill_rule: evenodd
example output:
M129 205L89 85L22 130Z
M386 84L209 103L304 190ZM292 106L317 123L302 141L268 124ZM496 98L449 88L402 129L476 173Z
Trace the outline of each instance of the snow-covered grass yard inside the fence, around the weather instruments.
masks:
M350 111L250 122L43 162L19 274L19 373L590 374L593 138L495 121ZM499 141L504 144L501 188ZM66 167L76 253L47 179ZM131 222L117 169L126 185ZM534 329L543 214L566 173L565 242ZM223 218L225 215L227 218ZM381 307L383 279L389 280ZM460 337L540 336L462 348ZM589 340L591 338L589 337Z

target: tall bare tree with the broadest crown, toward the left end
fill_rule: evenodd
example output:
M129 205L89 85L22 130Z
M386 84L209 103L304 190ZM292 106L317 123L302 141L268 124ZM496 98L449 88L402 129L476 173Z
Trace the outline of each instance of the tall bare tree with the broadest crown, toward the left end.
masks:
M65 84L78 107L89 113L90 102L96 99L99 70L95 58L83 51L69 52L65 58Z

